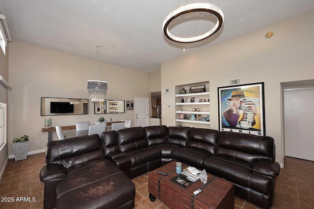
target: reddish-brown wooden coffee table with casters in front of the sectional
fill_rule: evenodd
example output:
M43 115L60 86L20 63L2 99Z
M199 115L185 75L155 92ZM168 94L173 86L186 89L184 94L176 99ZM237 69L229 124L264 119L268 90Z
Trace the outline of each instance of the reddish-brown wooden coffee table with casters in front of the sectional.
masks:
M182 169L187 167L182 165ZM157 171L168 173L167 176ZM209 173L207 184L200 180L186 188L176 185L170 179L176 173L176 162L168 163L148 174L148 191L151 201L157 197L172 209L233 209L235 205L235 188L232 182L213 176ZM198 195L193 191L202 189Z

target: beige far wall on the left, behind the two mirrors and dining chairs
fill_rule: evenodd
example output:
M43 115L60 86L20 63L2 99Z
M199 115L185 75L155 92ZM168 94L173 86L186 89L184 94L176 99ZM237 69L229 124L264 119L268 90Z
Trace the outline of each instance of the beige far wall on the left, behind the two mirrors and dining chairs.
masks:
M96 55L95 55L96 56ZM132 119L134 111L124 114L94 115L94 105L89 100L88 115L40 116L40 97L88 98L87 80L95 80L95 60L12 42L9 52L9 77L13 91L9 93L9 139L29 136L28 152L45 149L48 134L42 133L44 118L52 118L52 126L75 125L76 121L94 124L100 116L107 121ZM99 79L108 82L107 99L134 100L135 96L149 97L149 73L99 63ZM72 136L73 133L66 133ZM57 139L55 132L53 140ZM36 145L39 141L40 144ZM13 154L12 142L8 144L9 155Z

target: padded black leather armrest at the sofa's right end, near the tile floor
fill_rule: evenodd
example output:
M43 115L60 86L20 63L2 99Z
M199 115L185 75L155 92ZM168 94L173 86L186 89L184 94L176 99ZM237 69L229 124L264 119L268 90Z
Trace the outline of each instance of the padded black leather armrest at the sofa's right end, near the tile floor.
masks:
M252 170L254 173L278 176L280 172L280 164L275 161L259 161L252 165Z

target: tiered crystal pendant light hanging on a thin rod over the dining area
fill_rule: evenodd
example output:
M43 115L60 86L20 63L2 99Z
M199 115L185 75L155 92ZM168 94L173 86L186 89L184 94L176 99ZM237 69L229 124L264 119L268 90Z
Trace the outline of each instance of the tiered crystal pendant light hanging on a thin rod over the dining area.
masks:
M105 101L106 92L107 92L107 82L98 80L98 48L97 47L97 80L88 80L87 81L87 91L89 98L92 102L102 102Z

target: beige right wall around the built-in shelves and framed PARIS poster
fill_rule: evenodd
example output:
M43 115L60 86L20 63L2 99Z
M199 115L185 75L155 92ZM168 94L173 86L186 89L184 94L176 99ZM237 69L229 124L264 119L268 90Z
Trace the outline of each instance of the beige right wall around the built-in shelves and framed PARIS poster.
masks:
M175 86L209 80L210 128L218 130L217 88L227 80L264 82L266 135L275 139L276 161L283 163L281 82L314 79L314 13L271 25L233 40L161 64L162 124L175 125ZM272 38L265 38L273 31Z

